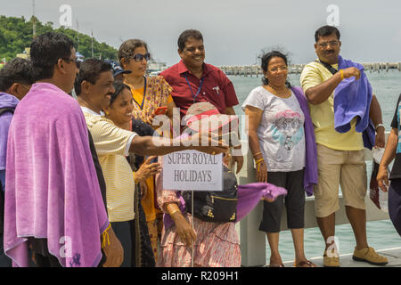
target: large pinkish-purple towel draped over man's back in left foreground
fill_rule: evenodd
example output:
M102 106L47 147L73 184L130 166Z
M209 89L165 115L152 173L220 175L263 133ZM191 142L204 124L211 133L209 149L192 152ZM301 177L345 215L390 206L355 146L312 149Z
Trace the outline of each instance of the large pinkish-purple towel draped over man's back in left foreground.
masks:
M78 102L48 83L32 85L10 126L4 252L28 266L28 237L47 239L63 266L97 266L109 225Z

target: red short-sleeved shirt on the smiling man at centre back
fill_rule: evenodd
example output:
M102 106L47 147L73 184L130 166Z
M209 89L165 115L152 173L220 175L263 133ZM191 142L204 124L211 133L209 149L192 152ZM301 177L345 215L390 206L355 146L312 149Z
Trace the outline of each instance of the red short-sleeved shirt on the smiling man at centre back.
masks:
M160 74L173 87L173 100L176 107L180 108L181 117L194 102L210 102L217 110L224 114L226 107L238 105L237 95L233 83L225 76L225 73L213 65L203 63L203 74L201 79L195 77L180 61L164 70ZM203 78L203 83L201 81ZM187 81L188 79L188 81ZM189 84L188 84L189 82ZM198 95L197 92L201 90ZM190 88L191 86L191 88ZM194 96L196 98L194 100Z

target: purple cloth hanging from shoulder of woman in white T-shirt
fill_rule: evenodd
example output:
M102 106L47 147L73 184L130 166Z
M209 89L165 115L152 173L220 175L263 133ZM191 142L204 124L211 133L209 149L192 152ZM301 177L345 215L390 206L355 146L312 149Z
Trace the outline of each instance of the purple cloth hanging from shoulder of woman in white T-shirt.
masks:
M307 196L312 196L314 193L314 185L317 184L317 151L315 130L312 119L309 114L309 107L307 105L307 97L300 87L292 87L292 92L298 99L299 106L304 113L305 122L305 171L304 171L304 189Z

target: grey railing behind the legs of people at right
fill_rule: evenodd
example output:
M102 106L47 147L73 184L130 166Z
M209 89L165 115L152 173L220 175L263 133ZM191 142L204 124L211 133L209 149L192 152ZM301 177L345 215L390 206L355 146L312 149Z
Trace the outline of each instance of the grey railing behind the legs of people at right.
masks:
M389 133L386 133L386 142ZM371 151L365 149L366 164L372 163ZM369 175L369 174L368 174ZM254 183L256 182L256 171L252 154L248 151L244 157L244 165L237 175L238 183ZM369 182L366 202L366 221L388 220L389 214L378 209L369 198ZM263 266L266 265L266 233L258 230L262 220L263 202L260 201L258 206L254 208L248 216L240 222L240 240L241 240L241 264L242 266ZM282 213L282 231L287 230L287 216L285 211ZM348 218L345 211L344 200L340 195L340 210L336 212L336 224L348 224ZM305 203L305 228L317 227L315 218L315 199L307 197ZM322 238L323 242L323 238Z

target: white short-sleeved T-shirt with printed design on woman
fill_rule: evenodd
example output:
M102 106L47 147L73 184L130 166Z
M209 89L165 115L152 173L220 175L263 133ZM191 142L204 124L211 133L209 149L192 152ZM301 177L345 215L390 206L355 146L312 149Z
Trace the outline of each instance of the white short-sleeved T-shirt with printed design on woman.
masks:
M305 167L305 116L295 94L280 98L259 86L253 89L242 109L263 110L258 139L268 171L289 172Z

